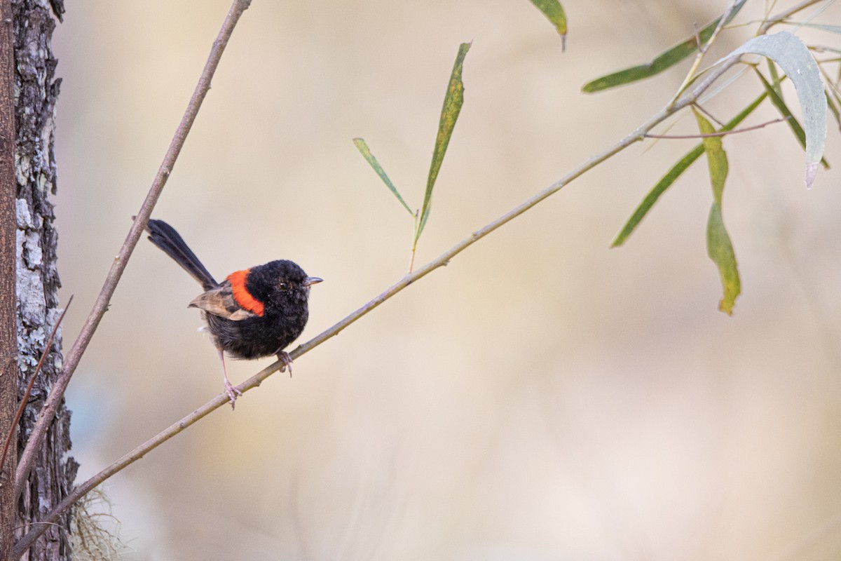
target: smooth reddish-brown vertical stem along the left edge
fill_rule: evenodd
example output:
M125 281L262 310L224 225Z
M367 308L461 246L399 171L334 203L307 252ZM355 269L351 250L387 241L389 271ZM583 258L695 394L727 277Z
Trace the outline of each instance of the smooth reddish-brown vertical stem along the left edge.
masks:
M13 434L18 404L18 328L15 298L15 248L18 220L14 174L14 49L12 3L0 1L0 434ZM12 482L16 453L0 466L0 558L12 550L17 509Z

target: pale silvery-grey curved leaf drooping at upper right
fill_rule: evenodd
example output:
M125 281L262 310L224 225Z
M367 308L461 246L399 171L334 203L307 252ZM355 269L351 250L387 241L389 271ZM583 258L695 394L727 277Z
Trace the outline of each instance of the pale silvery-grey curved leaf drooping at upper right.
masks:
M827 139L827 98L823 95L823 81L817 62L808 47L788 31L754 37L721 61L745 53L772 59L794 83L803 114L803 130L806 133L805 181L807 188L812 187L817 175L817 164L822 160Z

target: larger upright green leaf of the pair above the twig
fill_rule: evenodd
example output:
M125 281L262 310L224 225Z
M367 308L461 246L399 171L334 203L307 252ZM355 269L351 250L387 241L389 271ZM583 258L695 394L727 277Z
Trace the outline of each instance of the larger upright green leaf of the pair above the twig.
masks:
M426 178L426 193L424 193L423 205L421 206L421 219L418 220L415 228L415 243L421 237L421 232L426 226L426 219L429 218L429 211L432 205L432 189L441 171L441 164L444 155L447 154L447 146L450 144L452 130L456 126L458 114L464 103L464 82L462 82L462 70L464 57L470 50L471 43L462 43L458 47L456 62L452 65L450 82L447 85L447 94L444 96L444 105L441 108L441 119L438 121L438 135L435 139L435 149L432 151L432 161L429 167L429 176Z

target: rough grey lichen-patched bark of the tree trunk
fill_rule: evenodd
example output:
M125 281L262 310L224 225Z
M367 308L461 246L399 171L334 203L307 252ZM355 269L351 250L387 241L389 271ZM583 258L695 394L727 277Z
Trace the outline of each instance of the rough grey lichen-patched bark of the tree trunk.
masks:
M56 158L53 129L60 80L55 79L56 59L50 40L61 18L61 1L12 0L15 53L15 163L18 192L17 294L19 394L34 373L59 310L56 270L57 235L51 196L56 193ZM29 396L19 426L19 450L29 435L35 415L61 371L61 331ZM70 449L70 412L62 403L47 433L19 500L17 535L29 529L52 505L59 502L76 478L77 463L67 458ZM50 527L23 559L71 558L70 516Z

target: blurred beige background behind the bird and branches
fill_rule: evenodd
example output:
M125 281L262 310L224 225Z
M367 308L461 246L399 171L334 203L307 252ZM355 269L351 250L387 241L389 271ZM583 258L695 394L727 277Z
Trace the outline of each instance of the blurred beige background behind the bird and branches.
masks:
M565 4L562 55L527 0L255 0L156 217L217 277L285 257L325 278L304 340L315 336L408 259L410 220L351 139L368 140L420 204L460 42L473 40L466 103L419 263L661 108L681 71L579 89L685 39L725 2ZM55 42L60 265L64 299L76 297L67 346L228 6L68 5ZM763 8L752 0L740 20ZM820 21L841 23L841 9ZM729 119L757 92L745 77L708 108ZM750 124L775 116L764 108ZM838 138L830 119L835 166ZM803 188L783 125L725 141L743 280L727 317L706 257L703 161L608 249L694 144L632 147L302 357L294 378L269 378L115 476L126 558L838 558L838 171ZM222 390L186 307L196 294L140 243L68 394L80 480ZM229 372L241 381L268 363Z

